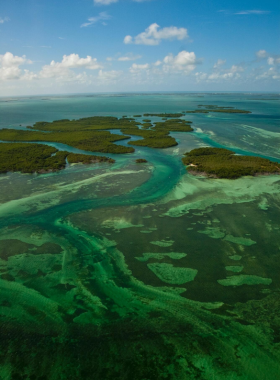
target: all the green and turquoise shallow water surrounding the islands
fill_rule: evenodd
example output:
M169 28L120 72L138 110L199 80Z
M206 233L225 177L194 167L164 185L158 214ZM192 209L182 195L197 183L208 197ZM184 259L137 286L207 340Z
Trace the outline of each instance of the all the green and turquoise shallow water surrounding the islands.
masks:
M279 377L280 178L206 179L181 163L206 144L280 160L271 98L0 99L1 128L198 104L253 112L189 114L178 146L111 166L0 176L1 380Z

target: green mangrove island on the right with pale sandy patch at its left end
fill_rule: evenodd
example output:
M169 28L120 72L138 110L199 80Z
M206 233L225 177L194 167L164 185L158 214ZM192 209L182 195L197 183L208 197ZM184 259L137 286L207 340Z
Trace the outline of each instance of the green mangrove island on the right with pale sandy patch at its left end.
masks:
M280 174L280 164L265 158L238 156L221 148L198 148L182 159L190 173L207 174L214 178L239 178L256 174Z

